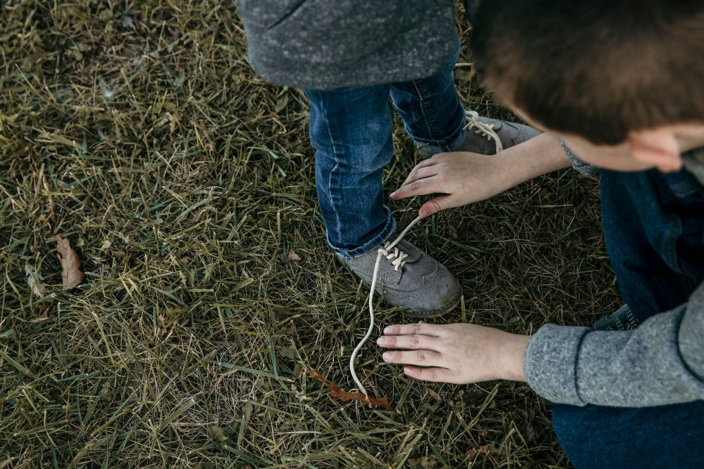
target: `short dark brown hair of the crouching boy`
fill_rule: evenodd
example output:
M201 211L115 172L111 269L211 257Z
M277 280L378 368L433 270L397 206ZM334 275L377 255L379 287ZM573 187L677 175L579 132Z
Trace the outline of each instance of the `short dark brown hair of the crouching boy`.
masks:
M704 123L704 1L484 0L472 53L500 98L593 143Z

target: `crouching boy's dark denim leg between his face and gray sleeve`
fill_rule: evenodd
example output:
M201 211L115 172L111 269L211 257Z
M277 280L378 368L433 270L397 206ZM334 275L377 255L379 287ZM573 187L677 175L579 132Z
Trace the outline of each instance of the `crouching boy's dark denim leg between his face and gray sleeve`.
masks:
M604 238L619 289L641 323L704 281L704 198L693 174L601 174Z

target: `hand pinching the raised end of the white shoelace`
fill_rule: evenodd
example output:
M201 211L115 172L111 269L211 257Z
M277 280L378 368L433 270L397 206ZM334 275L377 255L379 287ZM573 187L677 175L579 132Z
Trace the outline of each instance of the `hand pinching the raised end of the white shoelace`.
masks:
M401 187L391 194L399 200L412 195L441 193L420 207L420 217L451 207L484 200L505 191L501 184L500 155L486 156L479 153L438 153L413 168Z

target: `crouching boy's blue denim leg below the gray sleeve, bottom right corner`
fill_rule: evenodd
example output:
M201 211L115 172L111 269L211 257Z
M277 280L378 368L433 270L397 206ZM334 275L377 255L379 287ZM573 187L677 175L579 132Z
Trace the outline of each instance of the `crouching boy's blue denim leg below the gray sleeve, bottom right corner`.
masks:
M704 468L704 401L635 409L555 404L553 428L577 469Z

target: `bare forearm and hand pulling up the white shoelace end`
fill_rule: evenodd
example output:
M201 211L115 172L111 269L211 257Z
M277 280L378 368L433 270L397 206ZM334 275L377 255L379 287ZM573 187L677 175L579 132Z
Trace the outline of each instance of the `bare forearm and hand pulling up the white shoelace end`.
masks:
M541 134L498 155L439 153L420 162L391 198L441 193L420 207L421 217L490 198L536 176L570 167L553 134Z

